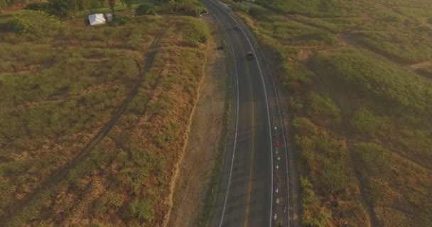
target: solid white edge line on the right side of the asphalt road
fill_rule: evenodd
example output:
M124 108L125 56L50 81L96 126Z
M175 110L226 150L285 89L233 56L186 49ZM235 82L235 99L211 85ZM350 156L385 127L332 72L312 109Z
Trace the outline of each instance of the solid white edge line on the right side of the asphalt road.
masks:
M213 4L219 5L217 4L215 1L210 0L213 2ZM252 48L252 52L254 52L254 55L257 56L257 53L254 50L254 46L251 43L251 40L249 40L249 38L247 37L246 33L244 32L242 26L239 25L239 23L237 23L236 19L234 17L232 17L231 13L227 12L225 9L223 9L222 7L220 8L222 9L222 11L225 11L225 13L228 14L228 16L232 19L232 21L234 21L234 23L236 23L237 26L239 26L240 30L242 31L242 33L244 34L244 37L246 37L247 42L249 43L249 45ZM269 218L269 226L272 226L271 223L271 218L273 216L273 141L271 140L271 123L270 123L270 111L269 111L269 99L267 98L267 92L266 92L266 85L264 83L264 77L262 75L262 71L261 71L261 66L259 65L259 61L257 60L257 65L258 65L258 69L259 69L259 74L261 75L261 82L264 88L264 95L266 96L266 107L267 107L267 118L269 120L269 138L270 138L270 150L271 150L271 199L270 199L270 218Z

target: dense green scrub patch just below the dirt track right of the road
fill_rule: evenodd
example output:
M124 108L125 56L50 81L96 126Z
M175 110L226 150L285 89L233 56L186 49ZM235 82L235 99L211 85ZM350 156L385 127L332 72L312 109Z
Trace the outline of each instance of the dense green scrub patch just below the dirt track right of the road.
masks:
M432 108L431 83L384 62L347 52L316 57L313 65L338 77L338 81L357 87L371 99L379 99L394 109L410 109L413 114L426 114Z

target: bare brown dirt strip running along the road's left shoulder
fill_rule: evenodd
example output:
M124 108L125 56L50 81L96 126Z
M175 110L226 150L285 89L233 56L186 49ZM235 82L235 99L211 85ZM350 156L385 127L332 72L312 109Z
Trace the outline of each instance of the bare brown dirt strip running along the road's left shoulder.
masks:
M225 52L215 50L222 40L217 24L210 25L212 40L207 49L208 61L200 100L195 109L191 133L175 184L173 207L168 226L196 226L204 207L210 174L217 155L227 87Z

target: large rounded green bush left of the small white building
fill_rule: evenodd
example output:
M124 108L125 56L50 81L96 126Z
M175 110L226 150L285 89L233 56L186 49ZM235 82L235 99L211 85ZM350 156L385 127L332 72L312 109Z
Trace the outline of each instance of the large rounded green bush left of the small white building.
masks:
M61 27L60 21L55 16L41 11L23 11L16 13L9 26L12 31L18 34L31 33L33 35L41 35L48 31L55 31Z

